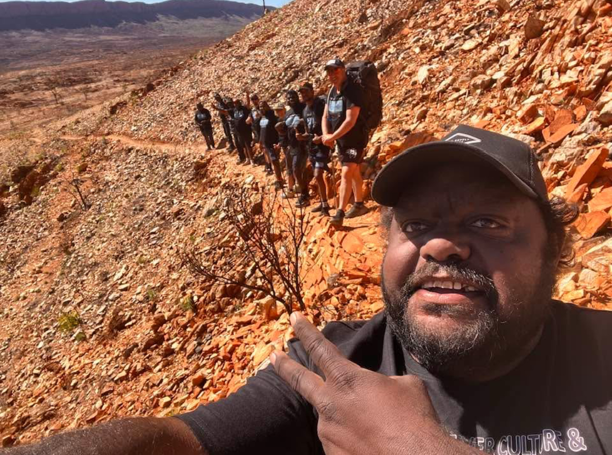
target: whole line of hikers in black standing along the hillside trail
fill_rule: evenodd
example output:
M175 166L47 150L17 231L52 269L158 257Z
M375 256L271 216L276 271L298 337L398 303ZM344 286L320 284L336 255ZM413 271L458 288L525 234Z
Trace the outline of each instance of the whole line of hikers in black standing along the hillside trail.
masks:
M327 95L316 96L313 85L304 83L297 91L286 92L289 109L285 104L270 106L248 91L245 91L244 104L239 97L223 98L215 94L212 108L220 117L228 149L237 150L238 163L255 165L258 144L267 174L275 176L275 189L282 190L285 199L297 194L296 207L310 205L307 178L310 161L321 198L321 203L312 211L325 216L330 216L328 194L335 193L335 185L329 179L329 163L335 147L342 170L340 198L330 223L341 225L344 218L368 212L363 202L360 164L370 133L381 120L382 97L378 73L371 62L345 65L335 58L326 63L325 70L332 84ZM195 122L208 150L214 148L211 112L202 103L197 105ZM346 212L351 193L354 204Z

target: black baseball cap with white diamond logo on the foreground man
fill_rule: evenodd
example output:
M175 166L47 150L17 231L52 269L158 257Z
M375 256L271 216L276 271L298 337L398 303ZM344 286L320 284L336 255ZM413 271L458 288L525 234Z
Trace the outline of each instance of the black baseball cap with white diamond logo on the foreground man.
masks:
M518 139L468 125L459 125L441 141L410 147L389 161L374 180L372 198L393 207L411 174L448 160L486 161L529 198L548 201L546 183L531 147Z

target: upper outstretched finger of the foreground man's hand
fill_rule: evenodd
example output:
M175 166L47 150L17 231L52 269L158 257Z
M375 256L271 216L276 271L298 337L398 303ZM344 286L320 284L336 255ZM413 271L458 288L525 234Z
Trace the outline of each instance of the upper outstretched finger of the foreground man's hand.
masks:
M291 314L291 325L297 338L326 379L334 380L345 374L354 363L347 360L334 343L297 311Z

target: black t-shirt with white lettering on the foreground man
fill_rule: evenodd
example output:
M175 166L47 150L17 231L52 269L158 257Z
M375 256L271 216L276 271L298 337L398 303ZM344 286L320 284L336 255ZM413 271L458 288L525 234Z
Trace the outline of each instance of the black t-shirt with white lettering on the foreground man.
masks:
M331 322L323 333L349 360L424 380L441 423L498 455L612 454L612 313L554 301L542 339L509 374L487 383L442 380L395 341L384 313ZM317 371L301 343L289 355ZM223 399L180 415L211 455L323 455L312 406L271 366ZM535 448L535 449L534 449Z

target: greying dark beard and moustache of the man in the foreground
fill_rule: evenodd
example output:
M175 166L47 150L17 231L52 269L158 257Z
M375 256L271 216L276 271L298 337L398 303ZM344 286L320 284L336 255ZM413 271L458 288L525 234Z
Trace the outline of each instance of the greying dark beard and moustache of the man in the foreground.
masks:
M428 261L409 275L397 292L387 288L383 273L383 298L389 326L404 349L428 371L461 378L486 375L520 355L548 317L555 273L553 261L545 256L540 276L531 286L522 283L521 289L507 292L507 301L500 301L490 276L461 263ZM449 281L477 284L487 300L485 307L437 303L420 306L421 311L431 316L460 321L457 330L427 327L418 320L410 305L412 295L419 289L416 283L440 272L449 276ZM526 278L533 279L532 276Z

